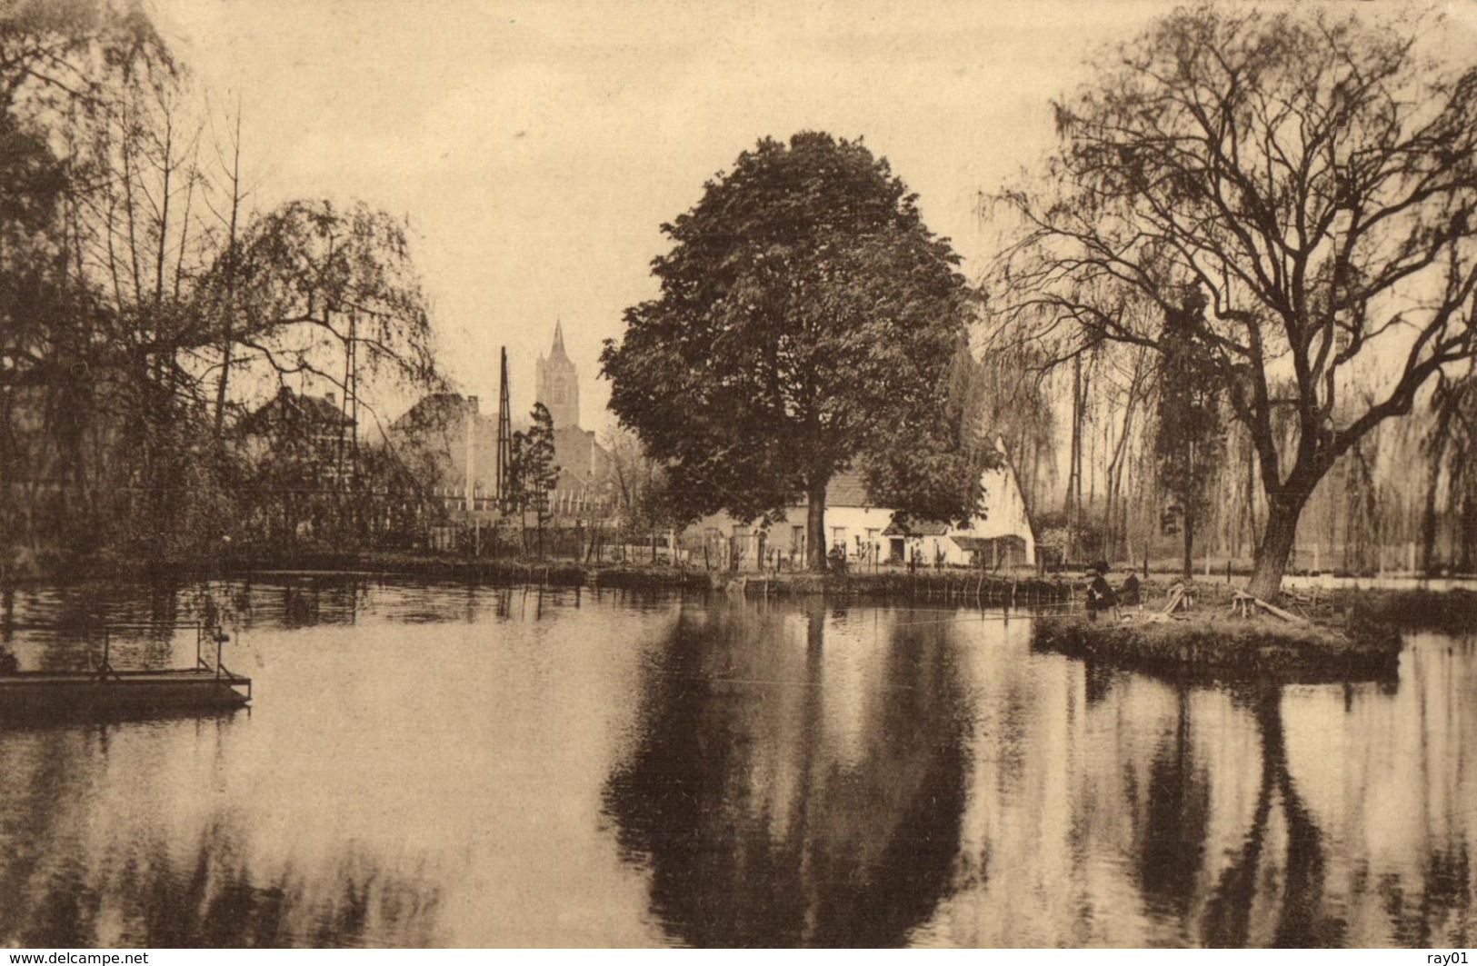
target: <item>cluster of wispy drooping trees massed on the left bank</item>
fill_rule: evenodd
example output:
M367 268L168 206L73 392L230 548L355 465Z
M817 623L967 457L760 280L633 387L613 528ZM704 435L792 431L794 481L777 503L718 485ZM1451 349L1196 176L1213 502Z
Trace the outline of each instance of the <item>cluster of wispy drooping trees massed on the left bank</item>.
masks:
M418 523L357 431L437 384L409 232L253 208L217 103L136 4L0 10L0 573Z

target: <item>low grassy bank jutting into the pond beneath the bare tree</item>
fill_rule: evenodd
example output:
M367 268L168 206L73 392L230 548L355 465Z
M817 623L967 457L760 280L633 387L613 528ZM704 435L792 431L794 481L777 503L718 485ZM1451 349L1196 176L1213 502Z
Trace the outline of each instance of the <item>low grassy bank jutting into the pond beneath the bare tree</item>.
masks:
M1366 623L1344 634L1319 623L1201 612L1176 620L1038 620L1032 647L1089 662L1207 678L1276 681L1393 679L1400 632Z

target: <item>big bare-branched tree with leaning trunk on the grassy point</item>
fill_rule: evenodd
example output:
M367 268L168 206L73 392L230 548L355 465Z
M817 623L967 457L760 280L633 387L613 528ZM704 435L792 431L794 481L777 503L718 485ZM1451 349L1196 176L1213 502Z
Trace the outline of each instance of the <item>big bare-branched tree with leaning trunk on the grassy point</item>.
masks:
M1022 235L997 309L1164 352L1156 318L1207 301L1193 346L1269 505L1250 589L1275 595L1317 482L1474 349L1477 69L1403 25L1208 4L1108 52L1056 120L1050 188L998 199Z

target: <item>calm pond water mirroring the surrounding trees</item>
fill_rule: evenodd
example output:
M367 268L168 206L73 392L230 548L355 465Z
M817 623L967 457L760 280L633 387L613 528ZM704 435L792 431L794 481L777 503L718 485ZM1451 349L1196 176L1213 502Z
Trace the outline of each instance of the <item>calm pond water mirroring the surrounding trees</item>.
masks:
M1029 622L282 578L219 585L220 718L0 724L0 944L1419 945L1477 935L1477 644L1208 687ZM195 589L4 598L193 660ZM10 628L9 631L6 628ZM96 651L95 651L96 653Z

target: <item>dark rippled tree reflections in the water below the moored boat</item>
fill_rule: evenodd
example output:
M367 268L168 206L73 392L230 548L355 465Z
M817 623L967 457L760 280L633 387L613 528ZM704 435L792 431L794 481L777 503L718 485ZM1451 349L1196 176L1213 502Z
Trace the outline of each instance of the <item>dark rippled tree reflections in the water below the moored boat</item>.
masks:
M439 886L337 843L301 873L253 867L239 814L211 811L171 827L171 789L143 768L155 736L134 725L10 728L0 743L0 938L25 947L431 944ZM170 721L193 765L220 767L222 721ZM186 767L185 773L192 771ZM142 774L140 774L142 773ZM185 774L177 775L180 778ZM183 835L182 835L183 833ZM257 857L260 863L260 857ZM270 864L270 863L269 863Z

